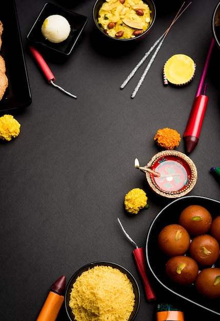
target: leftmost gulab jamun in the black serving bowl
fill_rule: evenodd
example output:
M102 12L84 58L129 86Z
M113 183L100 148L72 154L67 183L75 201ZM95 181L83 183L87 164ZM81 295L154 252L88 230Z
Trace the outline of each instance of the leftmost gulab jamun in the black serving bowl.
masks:
M158 246L168 256L185 254L190 246L189 233L179 224L167 225L158 235Z

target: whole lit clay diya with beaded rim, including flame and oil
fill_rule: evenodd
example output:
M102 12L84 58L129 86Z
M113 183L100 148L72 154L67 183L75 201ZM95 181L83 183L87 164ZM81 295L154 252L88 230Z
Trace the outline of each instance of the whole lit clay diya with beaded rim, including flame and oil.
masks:
M135 167L146 174L150 188L164 197L184 196L197 181L195 164L187 155L176 150L157 153L144 167L139 167L138 160L135 160Z

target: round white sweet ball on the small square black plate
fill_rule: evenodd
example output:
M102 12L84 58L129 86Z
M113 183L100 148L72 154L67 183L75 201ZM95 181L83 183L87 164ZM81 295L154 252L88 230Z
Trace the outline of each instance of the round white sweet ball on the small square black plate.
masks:
M41 31L51 43L61 43L70 34L70 24L62 15L53 14L45 19Z

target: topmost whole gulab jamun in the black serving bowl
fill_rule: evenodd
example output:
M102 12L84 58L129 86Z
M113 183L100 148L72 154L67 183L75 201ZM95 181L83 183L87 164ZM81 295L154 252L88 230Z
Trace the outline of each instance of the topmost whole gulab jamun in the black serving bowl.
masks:
M212 216L203 206L190 205L179 215L179 224L185 227L190 235L201 235L210 229Z

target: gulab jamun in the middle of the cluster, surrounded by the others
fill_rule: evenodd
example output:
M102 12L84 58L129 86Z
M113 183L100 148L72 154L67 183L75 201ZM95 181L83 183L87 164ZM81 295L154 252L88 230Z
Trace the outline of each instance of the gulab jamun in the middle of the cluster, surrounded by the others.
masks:
M219 244L209 234L198 235L192 239L189 253L199 265L211 266L219 257Z

